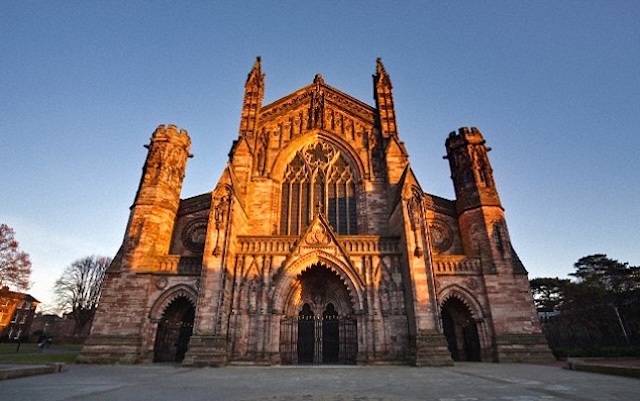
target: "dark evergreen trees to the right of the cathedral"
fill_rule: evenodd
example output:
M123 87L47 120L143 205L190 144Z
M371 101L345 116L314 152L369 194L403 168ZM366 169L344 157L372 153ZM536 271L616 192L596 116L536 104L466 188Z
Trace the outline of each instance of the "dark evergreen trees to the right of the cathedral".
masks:
M595 254L574 268L573 279L530 281L551 348L597 354L640 347L640 266Z

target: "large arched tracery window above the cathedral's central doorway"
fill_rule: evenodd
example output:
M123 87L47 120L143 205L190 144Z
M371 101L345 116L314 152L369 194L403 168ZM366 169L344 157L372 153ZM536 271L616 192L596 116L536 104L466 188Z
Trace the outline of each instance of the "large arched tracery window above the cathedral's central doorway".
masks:
M296 154L282 182L280 234L299 235L322 211L338 234L357 234L356 183L338 150L315 143Z

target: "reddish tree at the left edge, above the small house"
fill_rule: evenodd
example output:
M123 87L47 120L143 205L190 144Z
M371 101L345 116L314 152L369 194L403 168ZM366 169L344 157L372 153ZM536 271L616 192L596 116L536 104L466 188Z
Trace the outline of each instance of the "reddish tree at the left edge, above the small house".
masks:
M13 228L0 224L0 288L26 291L30 287L31 261L20 250Z

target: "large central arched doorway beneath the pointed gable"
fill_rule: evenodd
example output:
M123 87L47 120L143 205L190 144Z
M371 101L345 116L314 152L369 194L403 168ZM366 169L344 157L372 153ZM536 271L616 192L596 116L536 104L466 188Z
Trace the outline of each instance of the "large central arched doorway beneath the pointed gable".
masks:
M283 364L354 364L358 353L356 320L349 290L322 265L302 272L289 311L280 326Z

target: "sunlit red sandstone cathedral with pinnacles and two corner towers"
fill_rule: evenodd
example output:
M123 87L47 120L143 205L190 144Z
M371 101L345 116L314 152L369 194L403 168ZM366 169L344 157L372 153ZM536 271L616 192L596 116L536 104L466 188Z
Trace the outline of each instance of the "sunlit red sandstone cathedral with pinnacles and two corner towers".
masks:
M321 75L264 89L258 58L211 192L180 198L191 140L155 130L81 361L551 359L480 131L446 138L448 200L411 169L379 59L374 106Z

